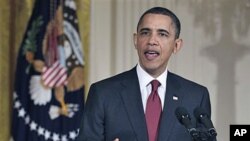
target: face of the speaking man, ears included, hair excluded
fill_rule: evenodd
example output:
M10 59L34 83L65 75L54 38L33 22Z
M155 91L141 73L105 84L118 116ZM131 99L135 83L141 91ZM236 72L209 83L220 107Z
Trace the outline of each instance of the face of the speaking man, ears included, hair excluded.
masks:
M171 54L181 48L182 40L175 39L169 16L146 14L134 34L134 45L142 68L157 77L165 71Z

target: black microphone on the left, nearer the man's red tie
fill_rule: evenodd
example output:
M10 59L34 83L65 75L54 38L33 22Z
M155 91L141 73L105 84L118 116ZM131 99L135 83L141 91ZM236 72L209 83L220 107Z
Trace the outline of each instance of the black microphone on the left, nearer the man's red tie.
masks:
M193 126L190 115L188 114L187 110L184 107L178 107L175 110L175 115L179 122L187 128L189 134L194 139L197 139L199 136L198 131Z

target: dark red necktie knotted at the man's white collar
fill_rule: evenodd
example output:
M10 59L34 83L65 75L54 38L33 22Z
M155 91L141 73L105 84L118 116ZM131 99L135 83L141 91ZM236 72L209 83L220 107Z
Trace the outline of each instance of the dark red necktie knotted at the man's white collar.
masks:
M146 122L148 129L149 141L156 141L158 134L158 124L161 117L161 99L158 95L158 87L160 82L151 81L152 91L147 100L146 106Z

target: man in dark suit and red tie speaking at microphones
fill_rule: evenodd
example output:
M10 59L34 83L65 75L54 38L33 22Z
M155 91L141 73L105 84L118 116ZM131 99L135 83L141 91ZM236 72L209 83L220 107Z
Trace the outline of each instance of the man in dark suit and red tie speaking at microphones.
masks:
M205 87L167 69L170 56L182 47L180 28L166 8L154 7L141 16L134 34L139 63L91 85L78 141L192 140L175 109L193 113L202 107L210 114L210 99Z

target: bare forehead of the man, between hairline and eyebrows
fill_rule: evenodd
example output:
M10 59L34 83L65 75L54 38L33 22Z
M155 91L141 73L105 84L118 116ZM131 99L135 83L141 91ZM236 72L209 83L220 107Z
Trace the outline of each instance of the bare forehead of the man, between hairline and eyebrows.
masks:
M171 30L173 29L173 22L172 19L167 15L162 14L146 14L140 25L139 30L141 28L156 28L156 29L165 29Z

